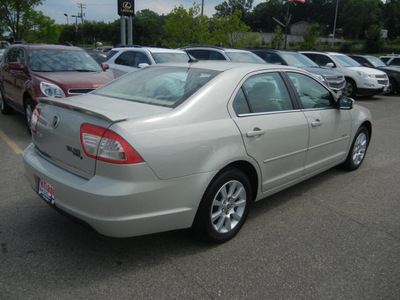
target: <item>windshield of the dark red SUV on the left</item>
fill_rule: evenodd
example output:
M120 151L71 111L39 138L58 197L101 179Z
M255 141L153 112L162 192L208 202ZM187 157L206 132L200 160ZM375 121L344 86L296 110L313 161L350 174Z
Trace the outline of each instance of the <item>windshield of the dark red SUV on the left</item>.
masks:
M29 65L36 72L101 72L100 65L85 51L37 49L29 52Z

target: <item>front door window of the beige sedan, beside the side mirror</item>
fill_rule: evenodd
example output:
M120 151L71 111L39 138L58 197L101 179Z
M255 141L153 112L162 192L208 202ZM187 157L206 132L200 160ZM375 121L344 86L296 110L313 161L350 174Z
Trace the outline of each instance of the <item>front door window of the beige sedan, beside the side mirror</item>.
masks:
M332 108L333 97L323 85L300 73L288 72L289 78L296 88L301 104L305 109Z

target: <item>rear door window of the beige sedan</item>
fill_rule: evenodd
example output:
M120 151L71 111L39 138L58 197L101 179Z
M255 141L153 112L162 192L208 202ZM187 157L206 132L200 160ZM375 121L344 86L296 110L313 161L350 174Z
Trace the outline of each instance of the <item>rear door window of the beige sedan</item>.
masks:
M251 113L293 109L286 85L278 72L252 76L246 80L242 88Z

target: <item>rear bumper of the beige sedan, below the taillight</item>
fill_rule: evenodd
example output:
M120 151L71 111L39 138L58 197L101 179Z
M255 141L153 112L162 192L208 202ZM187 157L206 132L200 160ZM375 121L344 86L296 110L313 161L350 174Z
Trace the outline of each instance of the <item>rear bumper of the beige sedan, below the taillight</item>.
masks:
M88 180L50 163L33 144L25 149L23 159L25 177L36 193L39 179L45 180L54 189L55 208L112 237L190 227L214 176L202 173L160 180L142 163L128 165L126 171L119 168L110 175L98 171Z

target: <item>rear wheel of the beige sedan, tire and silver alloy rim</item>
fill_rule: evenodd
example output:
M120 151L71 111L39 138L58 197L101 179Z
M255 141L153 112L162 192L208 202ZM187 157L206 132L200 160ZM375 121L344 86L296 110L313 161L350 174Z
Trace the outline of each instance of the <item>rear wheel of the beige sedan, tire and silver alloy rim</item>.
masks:
M192 228L206 241L224 243L242 228L251 199L248 177L237 168L224 169L204 193Z

